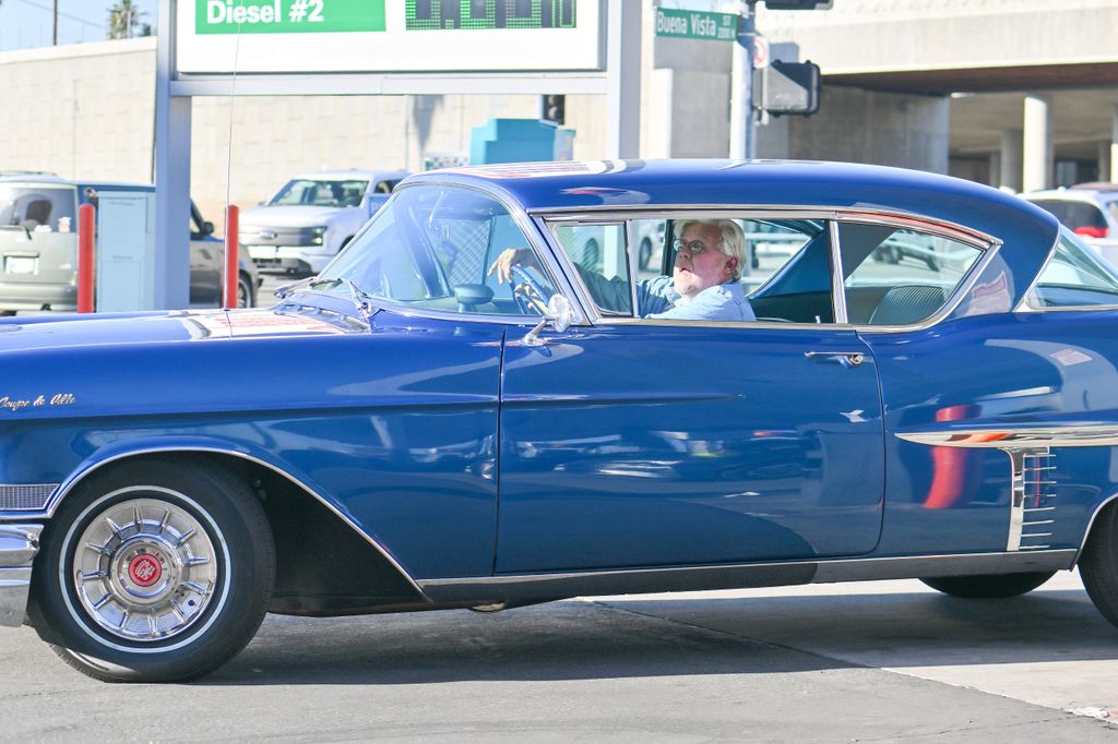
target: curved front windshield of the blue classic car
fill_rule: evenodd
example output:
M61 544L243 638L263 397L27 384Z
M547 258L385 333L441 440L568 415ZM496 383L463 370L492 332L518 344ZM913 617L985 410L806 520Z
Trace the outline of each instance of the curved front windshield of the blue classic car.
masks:
M512 276L491 271L518 250ZM508 209L476 191L397 191L320 279L352 282L378 303L451 313L540 315L555 284Z

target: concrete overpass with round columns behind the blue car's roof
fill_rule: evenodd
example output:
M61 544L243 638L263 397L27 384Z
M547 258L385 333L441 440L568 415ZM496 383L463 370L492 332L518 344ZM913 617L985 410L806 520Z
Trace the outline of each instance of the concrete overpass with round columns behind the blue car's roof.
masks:
M826 156L821 131L840 121L880 135L917 105L931 136L946 127L955 174L1014 190L1118 181L1116 0L837 0L759 8L757 27L823 71L824 108L793 123L793 156Z

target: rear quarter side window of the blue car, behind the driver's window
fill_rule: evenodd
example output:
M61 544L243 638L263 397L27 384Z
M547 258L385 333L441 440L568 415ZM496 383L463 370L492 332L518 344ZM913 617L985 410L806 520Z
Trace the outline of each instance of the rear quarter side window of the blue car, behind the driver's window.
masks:
M942 236L887 225L839 226L846 316L863 325L910 325L931 317L983 251Z

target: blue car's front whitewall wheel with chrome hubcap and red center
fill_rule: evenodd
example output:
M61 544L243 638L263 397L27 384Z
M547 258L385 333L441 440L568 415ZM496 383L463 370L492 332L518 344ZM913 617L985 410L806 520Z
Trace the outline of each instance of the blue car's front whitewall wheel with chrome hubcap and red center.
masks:
M206 675L252 639L275 581L255 494L219 468L169 460L95 475L44 532L31 621L106 681Z

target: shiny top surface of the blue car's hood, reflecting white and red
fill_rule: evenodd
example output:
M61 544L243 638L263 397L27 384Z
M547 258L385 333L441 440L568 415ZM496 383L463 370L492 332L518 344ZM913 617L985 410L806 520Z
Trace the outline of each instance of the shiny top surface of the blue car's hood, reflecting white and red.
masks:
M272 309L173 311L13 317L0 321L0 354L91 346L218 342L358 332L356 322Z

